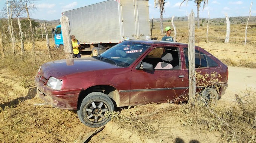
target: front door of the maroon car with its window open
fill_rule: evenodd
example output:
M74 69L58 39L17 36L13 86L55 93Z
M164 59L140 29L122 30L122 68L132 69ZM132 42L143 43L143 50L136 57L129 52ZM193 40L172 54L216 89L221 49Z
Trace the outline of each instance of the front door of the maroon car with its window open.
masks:
M180 55L179 50L173 54ZM161 62L163 50L160 47L152 51L143 58L143 62L153 64L154 67ZM180 56L175 56L180 58ZM187 89L187 77L181 59L178 60L179 67L176 69L154 69L153 71L136 70L131 71L131 94L130 105L146 104L149 102L166 102L183 96ZM137 63L139 64L139 62ZM181 97L182 98L182 97Z

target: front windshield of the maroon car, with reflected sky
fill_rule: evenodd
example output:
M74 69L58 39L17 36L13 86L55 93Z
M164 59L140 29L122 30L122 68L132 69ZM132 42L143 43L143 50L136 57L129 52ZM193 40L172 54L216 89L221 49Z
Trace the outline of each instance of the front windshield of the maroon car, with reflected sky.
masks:
M150 46L143 43L122 42L98 55L98 58L121 67L130 66Z

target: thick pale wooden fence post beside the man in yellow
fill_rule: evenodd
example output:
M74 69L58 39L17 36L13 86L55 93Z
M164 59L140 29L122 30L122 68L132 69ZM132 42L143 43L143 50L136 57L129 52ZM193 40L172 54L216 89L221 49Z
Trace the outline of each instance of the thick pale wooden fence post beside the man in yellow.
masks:
M73 47L72 47L72 41L71 41L69 18L63 15L61 16L60 21L61 21L61 31L62 31L62 37L63 37L65 57L66 59L73 58Z

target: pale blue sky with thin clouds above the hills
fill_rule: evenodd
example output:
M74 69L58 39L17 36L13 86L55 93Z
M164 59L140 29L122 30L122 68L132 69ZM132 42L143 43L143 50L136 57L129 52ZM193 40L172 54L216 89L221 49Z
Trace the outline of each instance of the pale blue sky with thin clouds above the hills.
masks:
M9 0L10 1L10 0ZM35 0L37 10L30 14L31 18L42 20L56 20L61 17L61 12L87 6L90 4L102 2L105 0ZM183 0L165 0L164 18L172 16L187 16L193 9L195 17L197 16L197 6L193 1L185 1L180 7ZM200 18L224 18L225 13L229 17L249 16L250 4L254 2L251 9L251 16L256 16L256 0L209 0L208 5L203 10L203 3L200 7ZM0 0L0 8L5 5L6 0ZM154 8L154 0L149 0L149 18L159 18L160 11Z

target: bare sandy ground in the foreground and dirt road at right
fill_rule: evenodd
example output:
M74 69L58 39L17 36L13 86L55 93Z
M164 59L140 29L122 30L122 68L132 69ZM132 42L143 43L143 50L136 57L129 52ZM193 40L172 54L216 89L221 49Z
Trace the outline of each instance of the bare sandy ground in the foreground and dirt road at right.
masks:
M0 142L77 142L90 131L96 129L84 126L78 119L76 112L61 110L49 105L35 106L44 103L35 96L34 87L25 89L19 85L21 79L6 71L0 70L0 86L5 92L0 93L1 106L4 108L12 104L12 109L7 109L0 114ZM219 101L219 105L235 104L235 94L244 95L247 91L256 91L256 69L229 67L229 87ZM3 91L3 90L2 90ZM2 100L8 96L8 102ZM159 104L156 109L162 109L168 104ZM126 112L130 112L128 109ZM8 113L8 115L7 115ZM7 118L5 119L5 116ZM166 130L168 129L168 130ZM174 117L162 118L158 130L165 136L148 136L135 131L125 130L114 122L109 122L101 133L91 138L91 142L137 142L162 143L183 140L189 142L197 140L201 143L219 142L217 132L200 133L183 127ZM193 136L191 136L193 134Z

